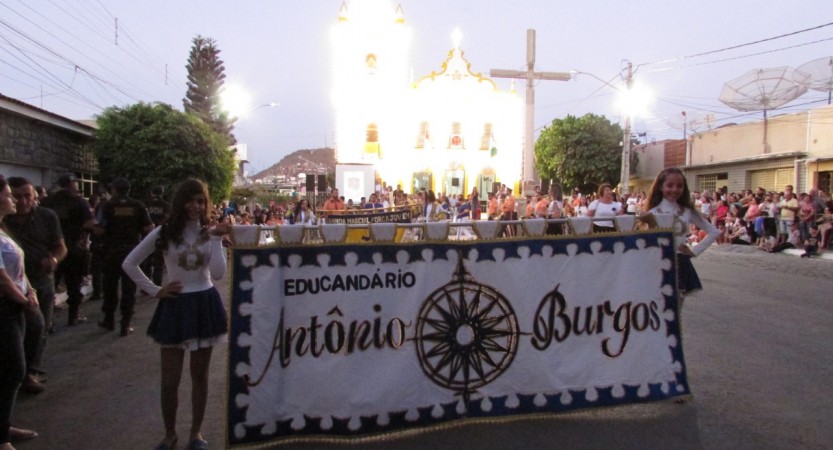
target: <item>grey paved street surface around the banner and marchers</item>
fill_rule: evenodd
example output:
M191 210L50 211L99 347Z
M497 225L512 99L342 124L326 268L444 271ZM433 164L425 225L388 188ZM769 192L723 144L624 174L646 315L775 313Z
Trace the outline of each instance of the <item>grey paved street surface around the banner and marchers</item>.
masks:
M706 286L686 301L684 348L693 401L610 408L499 424L477 423L355 445L372 449L822 449L833 442L833 261L712 246L695 260ZM224 294L227 292L223 285ZM19 396L15 422L41 436L36 449L150 449L162 434L158 350L143 334L155 302L140 300L137 333L92 323L65 327L59 312L45 357L45 393ZM204 432L223 448L226 349L212 362ZM180 439L190 425L183 377ZM180 445L179 448L183 448Z

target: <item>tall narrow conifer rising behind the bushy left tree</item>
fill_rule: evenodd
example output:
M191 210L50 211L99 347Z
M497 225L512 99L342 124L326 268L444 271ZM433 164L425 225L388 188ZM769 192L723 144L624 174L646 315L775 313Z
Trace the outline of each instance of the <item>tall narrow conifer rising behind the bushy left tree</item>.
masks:
M222 110L220 94L225 82L225 66L220 59L220 49L212 38L197 35L188 54L188 90L182 104L185 112L193 113L209 124L216 133L228 139L228 145L237 143L232 130L234 120Z

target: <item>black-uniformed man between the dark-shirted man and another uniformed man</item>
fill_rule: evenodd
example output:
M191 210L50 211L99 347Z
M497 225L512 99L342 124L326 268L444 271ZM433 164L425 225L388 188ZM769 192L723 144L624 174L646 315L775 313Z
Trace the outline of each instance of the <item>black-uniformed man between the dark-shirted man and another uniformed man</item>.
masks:
M81 282L87 264L87 235L95 226L90 205L78 193L78 179L67 173L58 178L58 191L41 201L41 206L55 211L61 222L61 232L67 247L67 255L55 271L55 284L61 279L67 288L67 325L86 322L79 313L84 295Z

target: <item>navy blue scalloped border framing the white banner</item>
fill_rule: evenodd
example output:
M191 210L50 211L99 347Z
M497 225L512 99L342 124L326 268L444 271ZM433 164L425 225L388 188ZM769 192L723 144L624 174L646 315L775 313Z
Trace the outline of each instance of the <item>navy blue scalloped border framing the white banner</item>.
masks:
M379 425L377 423L377 416L362 416L360 418L361 426L357 430L352 430L348 427L350 417L333 418L332 426L328 429L323 429L320 426L321 418L313 418L305 416L306 425L300 429L295 430L291 427L291 420L279 421L275 424L275 432L272 434L263 434L261 432L262 426L244 427L245 435L243 437L236 437L234 429L237 424L245 422L246 407L238 407L235 403L235 398L240 394L246 394L245 380L235 374L235 367L238 364L247 364L249 361L248 347L239 347L235 345L235 337L241 333L251 333L251 322L248 316L239 314L240 305L252 302L252 290L245 290L241 288L241 283L251 279L251 270L253 267L260 265L271 265L269 258L272 255L278 255L279 264L287 266L287 255L299 255L302 259L301 265L318 265L317 255L322 252L321 246L305 246L305 245L283 245L280 247L261 247L261 248L245 248L235 249L232 251L232 301L230 313L230 338L229 338L229 354L228 354L228 395L227 395L227 443L231 447L239 446L254 446L263 445L267 442L281 443L282 441L297 441L298 438L306 438L310 441L315 440L333 440L344 439L351 440L357 437L366 437L368 435L410 430L419 427L430 427L449 421L455 421L465 418L492 418L499 419L500 417L511 417L518 415L531 415L536 413L559 413L574 411L578 409L585 409L591 407L605 407L616 406L623 404L647 403L660 400L666 400L673 397L688 395L690 393L688 387L688 378L686 375L685 358L683 355L682 335L679 322L678 310L678 290L677 290L677 261L676 252L673 247L674 238L671 232L634 232L634 233L611 233L611 234L596 234L587 236L570 236L564 237L537 237L530 239L519 240L495 240L495 241L463 241L463 242L416 242L409 244L398 243L372 243L372 244L339 244L327 246L326 252L331 258L330 264L333 266L344 265L345 255L347 253L354 253L358 255L359 262L372 263L373 255L380 254L384 261L396 261L396 254L400 251L407 251L412 260L422 259L422 252L425 249L434 250L435 259L447 259L446 251L449 247L461 247L464 258L467 257L468 252L473 249L478 250L478 260L491 259L492 251L496 248L502 248L505 251L506 259L520 257L518 251L525 247L529 249L530 254L541 254L545 246L551 247L553 254L568 254L568 246L576 245L576 253L594 253L591 245L594 243L601 243L601 249L595 252L612 252L613 246L619 243L625 245L625 250L636 249L638 241L644 241L646 247L659 247L662 250L662 258L671 261L670 268L663 271L662 283L673 286L674 289L670 295L665 295L665 309L671 309L675 312L674 320L665 320L668 335L677 336L677 345L669 347L669 350L676 363L681 365L681 370L676 374L676 383L671 383L668 393L662 391L661 384L649 384L649 394L645 396L638 395L639 386L624 385L625 392L621 397L614 397L612 394L612 387L596 387L597 399L595 401L588 401L585 398L586 390L570 391L571 401L568 405L561 402L563 393L547 395L542 394L546 398L546 403L542 406L537 406L533 399L536 394L516 394L519 399L518 406L509 407L506 405L506 396L489 397L492 407L489 411L481 409L482 399L472 400L468 404L468 411L466 414L457 412L457 403L453 402L443 404L444 414L436 418L432 415L433 405L424 408L417 408L419 411L419 418L416 420L408 420L405 418L407 411L389 412L389 421L387 425ZM246 265L243 263L244 258L254 256L257 263Z

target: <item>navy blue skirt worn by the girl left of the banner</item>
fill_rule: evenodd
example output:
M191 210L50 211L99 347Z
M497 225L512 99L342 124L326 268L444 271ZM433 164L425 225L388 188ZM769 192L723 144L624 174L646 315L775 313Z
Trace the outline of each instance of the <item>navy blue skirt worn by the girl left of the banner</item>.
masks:
M163 347L206 347L227 332L226 308L213 286L160 299L148 325L148 336Z

